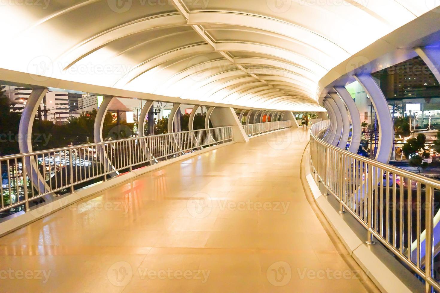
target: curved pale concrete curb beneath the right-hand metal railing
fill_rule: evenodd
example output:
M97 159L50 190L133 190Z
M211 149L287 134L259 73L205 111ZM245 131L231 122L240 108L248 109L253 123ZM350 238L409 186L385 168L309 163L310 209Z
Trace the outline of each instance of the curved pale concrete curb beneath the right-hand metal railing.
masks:
M328 224L344 244L345 249L368 275L381 292L423 292L425 286L399 261L385 250L378 241L367 245L367 230L351 214L338 213L339 203L329 195L323 195L317 178L310 171L309 147L304 150L301 161L301 181L315 201ZM323 189L320 189L323 188Z

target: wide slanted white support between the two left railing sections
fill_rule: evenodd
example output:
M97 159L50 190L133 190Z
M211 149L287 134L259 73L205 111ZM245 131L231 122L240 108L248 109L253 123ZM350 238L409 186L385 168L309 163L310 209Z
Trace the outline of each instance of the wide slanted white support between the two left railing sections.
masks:
M215 108L215 111L214 111ZM213 127L232 126L232 139L235 142L248 142L249 138L243 129L242 123L238 120L233 108L211 107L209 108L209 116ZM208 118L208 115L206 116ZM205 120L205 126L206 122ZM208 127L206 127L208 128Z

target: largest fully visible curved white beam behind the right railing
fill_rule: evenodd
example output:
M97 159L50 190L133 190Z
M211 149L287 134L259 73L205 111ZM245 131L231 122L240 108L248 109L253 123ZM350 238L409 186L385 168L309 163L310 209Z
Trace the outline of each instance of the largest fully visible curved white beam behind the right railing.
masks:
M363 86L370 97L370 101L376 111L379 124L379 143L376 153L376 160L388 164L391 158L392 145L394 143L394 124L388 103L378 83L368 75L355 76L356 80Z

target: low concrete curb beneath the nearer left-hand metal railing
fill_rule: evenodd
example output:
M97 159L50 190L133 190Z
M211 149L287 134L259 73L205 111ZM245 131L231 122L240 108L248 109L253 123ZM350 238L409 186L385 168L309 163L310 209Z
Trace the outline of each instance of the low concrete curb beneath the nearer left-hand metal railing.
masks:
M179 156L173 159L168 159L165 161L161 161L152 166L145 166L132 172L127 172L124 174L120 174L116 177L113 177L107 181L96 182L95 184L91 184L87 187L75 190L72 194L60 196L59 199L54 199L50 203L46 203L44 206L37 207L33 210L30 210L27 213L20 212L11 215L10 217L6 217L2 219L0 223L0 237L4 236L8 233L11 233L19 228L26 226L34 221L37 221L43 217L50 215L51 213L55 213L58 210L62 210L67 206L70 206L77 201L90 197L92 195L96 195L99 192L103 192L104 190L111 188L117 184L124 183L125 181L132 180L135 177L143 175L145 173L151 172L153 170L162 168L172 163L176 163L181 160L189 159L193 156L198 156L204 152L210 152L216 148L221 148L227 145L234 144L235 141L226 142L221 145L215 145L209 148L204 148L197 152L188 153L184 156Z

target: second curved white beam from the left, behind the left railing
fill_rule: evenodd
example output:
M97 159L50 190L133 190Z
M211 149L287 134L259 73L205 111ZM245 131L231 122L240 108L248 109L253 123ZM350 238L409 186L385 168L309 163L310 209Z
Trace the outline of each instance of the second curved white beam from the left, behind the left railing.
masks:
M96 112L95 123L93 124L93 139L95 143L103 142L103 127L104 127L104 118L107 114L107 110L110 106L110 102L113 99L113 96L104 96L103 102L99 106L98 112ZM99 151L97 150L97 154L99 159L103 162L105 170L111 171L115 170L113 164L109 161L108 155L104 145L99 146ZM114 172L110 174L111 177L119 174L118 172Z

